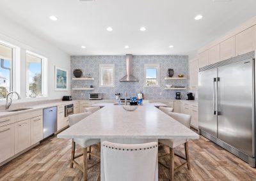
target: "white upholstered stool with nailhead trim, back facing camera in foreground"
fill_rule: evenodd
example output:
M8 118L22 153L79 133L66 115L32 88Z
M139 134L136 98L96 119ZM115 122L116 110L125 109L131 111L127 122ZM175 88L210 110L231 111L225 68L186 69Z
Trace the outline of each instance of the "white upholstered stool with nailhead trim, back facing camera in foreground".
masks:
M119 144L103 141L101 147L106 181L154 180L157 164L156 142Z

